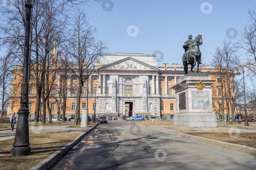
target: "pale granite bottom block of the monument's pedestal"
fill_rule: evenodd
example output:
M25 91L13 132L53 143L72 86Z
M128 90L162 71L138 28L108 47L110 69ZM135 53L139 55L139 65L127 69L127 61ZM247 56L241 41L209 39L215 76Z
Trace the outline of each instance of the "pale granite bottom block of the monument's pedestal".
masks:
M214 113L179 113L174 115L174 126L184 127L217 127Z

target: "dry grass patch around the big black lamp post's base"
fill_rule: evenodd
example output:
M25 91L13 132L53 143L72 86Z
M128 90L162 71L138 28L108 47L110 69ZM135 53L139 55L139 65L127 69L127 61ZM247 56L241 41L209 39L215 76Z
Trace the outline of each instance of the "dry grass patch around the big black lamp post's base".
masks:
M0 169L30 169L78 135L73 133L30 134L31 155L17 157L12 157L10 154L14 139L0 141Z

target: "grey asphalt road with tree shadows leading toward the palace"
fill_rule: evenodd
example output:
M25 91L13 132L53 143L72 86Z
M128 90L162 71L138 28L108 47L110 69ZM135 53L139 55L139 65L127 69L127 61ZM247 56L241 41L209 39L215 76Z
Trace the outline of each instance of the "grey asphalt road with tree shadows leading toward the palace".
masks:
M98 130L98 131L96 131ZM256 156L186 139L166 128L109 121L51 169L256 169Z

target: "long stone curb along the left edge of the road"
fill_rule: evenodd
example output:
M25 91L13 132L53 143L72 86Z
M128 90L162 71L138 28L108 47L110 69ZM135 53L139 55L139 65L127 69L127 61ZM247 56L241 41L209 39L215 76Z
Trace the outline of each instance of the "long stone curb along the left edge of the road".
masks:
M62 148L58 149L52 155L48 156L45 160L39 162L34 167L30 168L30 170L45 170L49 169L58 159L63 156L67 151L69 151L73 146L76 145L84 136L86 136L90 131L92 131L95 127L97 127L100 123L95 124L91 129L83 131L78 137L76 137L70 143L64 145Z

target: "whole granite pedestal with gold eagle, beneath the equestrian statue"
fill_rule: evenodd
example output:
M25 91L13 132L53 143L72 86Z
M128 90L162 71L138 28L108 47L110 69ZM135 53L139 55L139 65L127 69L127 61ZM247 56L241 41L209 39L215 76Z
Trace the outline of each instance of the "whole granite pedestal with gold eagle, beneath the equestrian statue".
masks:
M202 81L201 83L199 81ZM211 80L208 73L188 73L172 87L175 90L174 125L184 127L217 127L212 111ZM198 90L195 84L203 89Z

